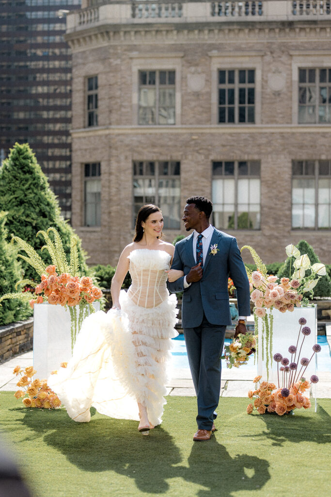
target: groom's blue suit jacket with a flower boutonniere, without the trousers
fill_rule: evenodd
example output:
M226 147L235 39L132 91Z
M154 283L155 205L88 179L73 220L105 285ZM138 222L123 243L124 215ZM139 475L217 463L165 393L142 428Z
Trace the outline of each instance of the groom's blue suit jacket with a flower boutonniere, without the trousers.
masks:
M251 314L249 281L236 239L214 228L210 244L217 244L218 251L212 255L208 248L200 281L191 283L186 289L184 289L184 276L177 281L167 283L171 293L184 291L183 328L199 326L203 313L210 324L232 324L228 295L229 276L237 289L239 316ZM192 233L177 242L171 268L181 269L186 275L195 265Z

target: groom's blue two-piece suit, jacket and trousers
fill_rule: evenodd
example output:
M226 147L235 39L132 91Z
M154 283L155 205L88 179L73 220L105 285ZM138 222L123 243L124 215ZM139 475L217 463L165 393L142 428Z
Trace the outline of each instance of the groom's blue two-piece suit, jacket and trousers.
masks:
M172 269L190 272L196 265L193 234L176 244ZM250 291L245 266L237 241L214 228L211 245L217 244L217 253L208 248L203 275L198 282L184 288L184 276L172 283L170 292L183 293L182 325L188 351L192 378L198 399L198 428L211 430L214 410L219 402L221 360L226 325L231 325L228 296L228 277L237 289L239 316L249 316Z

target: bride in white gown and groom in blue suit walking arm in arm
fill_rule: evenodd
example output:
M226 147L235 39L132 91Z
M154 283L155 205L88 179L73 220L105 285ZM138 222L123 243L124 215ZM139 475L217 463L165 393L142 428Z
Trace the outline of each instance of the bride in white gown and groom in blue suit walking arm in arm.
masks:
M231 325L228 277L237 289L239 321L235 335L246 333L250 314L249 282L236 239L209 224L212 203L187 199L183 222L193 233L173 247L161 240L159 207L138 212L133 242L124 248L112 280L113 308L83 323L67 368L49 378L69 416L89 421L90 407L116 418L139 419L148 434L160 424L166 404L166 363L177 336L176 297L183 291L182 324L198 400L194 440L215 431L221 385L221 352ZM171 269L170 269L171 268ZM121 291L130 271L132 285Z

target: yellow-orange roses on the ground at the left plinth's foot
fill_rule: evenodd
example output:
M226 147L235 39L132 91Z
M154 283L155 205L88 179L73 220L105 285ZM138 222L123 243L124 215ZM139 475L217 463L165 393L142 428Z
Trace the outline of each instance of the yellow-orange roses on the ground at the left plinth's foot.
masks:
M61 367L66 367L66 362L61 364ZM13 374L18 376L20 374L21 378L17 382L17 386L24 388L24 390L17 390L14 393L16 399L22 399L24 407L35 407L42 409L59 409L61 408L61 401L57 394L50 389L47 385L46 380L39 380L36 378L33 380L33 375L37 371L33 369L33 366L28 366L25 369L21 369L20 366L16 366L13 370ZM56 371L53 371L56 373Z

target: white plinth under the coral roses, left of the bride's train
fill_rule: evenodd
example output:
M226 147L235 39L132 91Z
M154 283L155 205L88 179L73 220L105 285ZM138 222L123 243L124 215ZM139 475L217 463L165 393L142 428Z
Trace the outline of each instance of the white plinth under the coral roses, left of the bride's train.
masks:
M93 307L99 310L100 303ZM79 306L76 311L78 316ZM33 321L33 367L38 378L47 379L71 357L70 311L60 305L35 304Z

